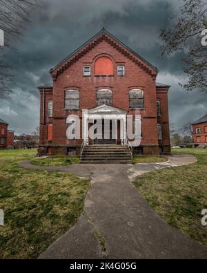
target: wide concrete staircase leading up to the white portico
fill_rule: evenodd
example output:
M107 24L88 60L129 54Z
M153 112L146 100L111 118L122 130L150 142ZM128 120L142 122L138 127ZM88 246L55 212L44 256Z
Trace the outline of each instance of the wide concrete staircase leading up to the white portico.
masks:
M81 164L132 163L130 150L121 145L90 145L83 149Z

